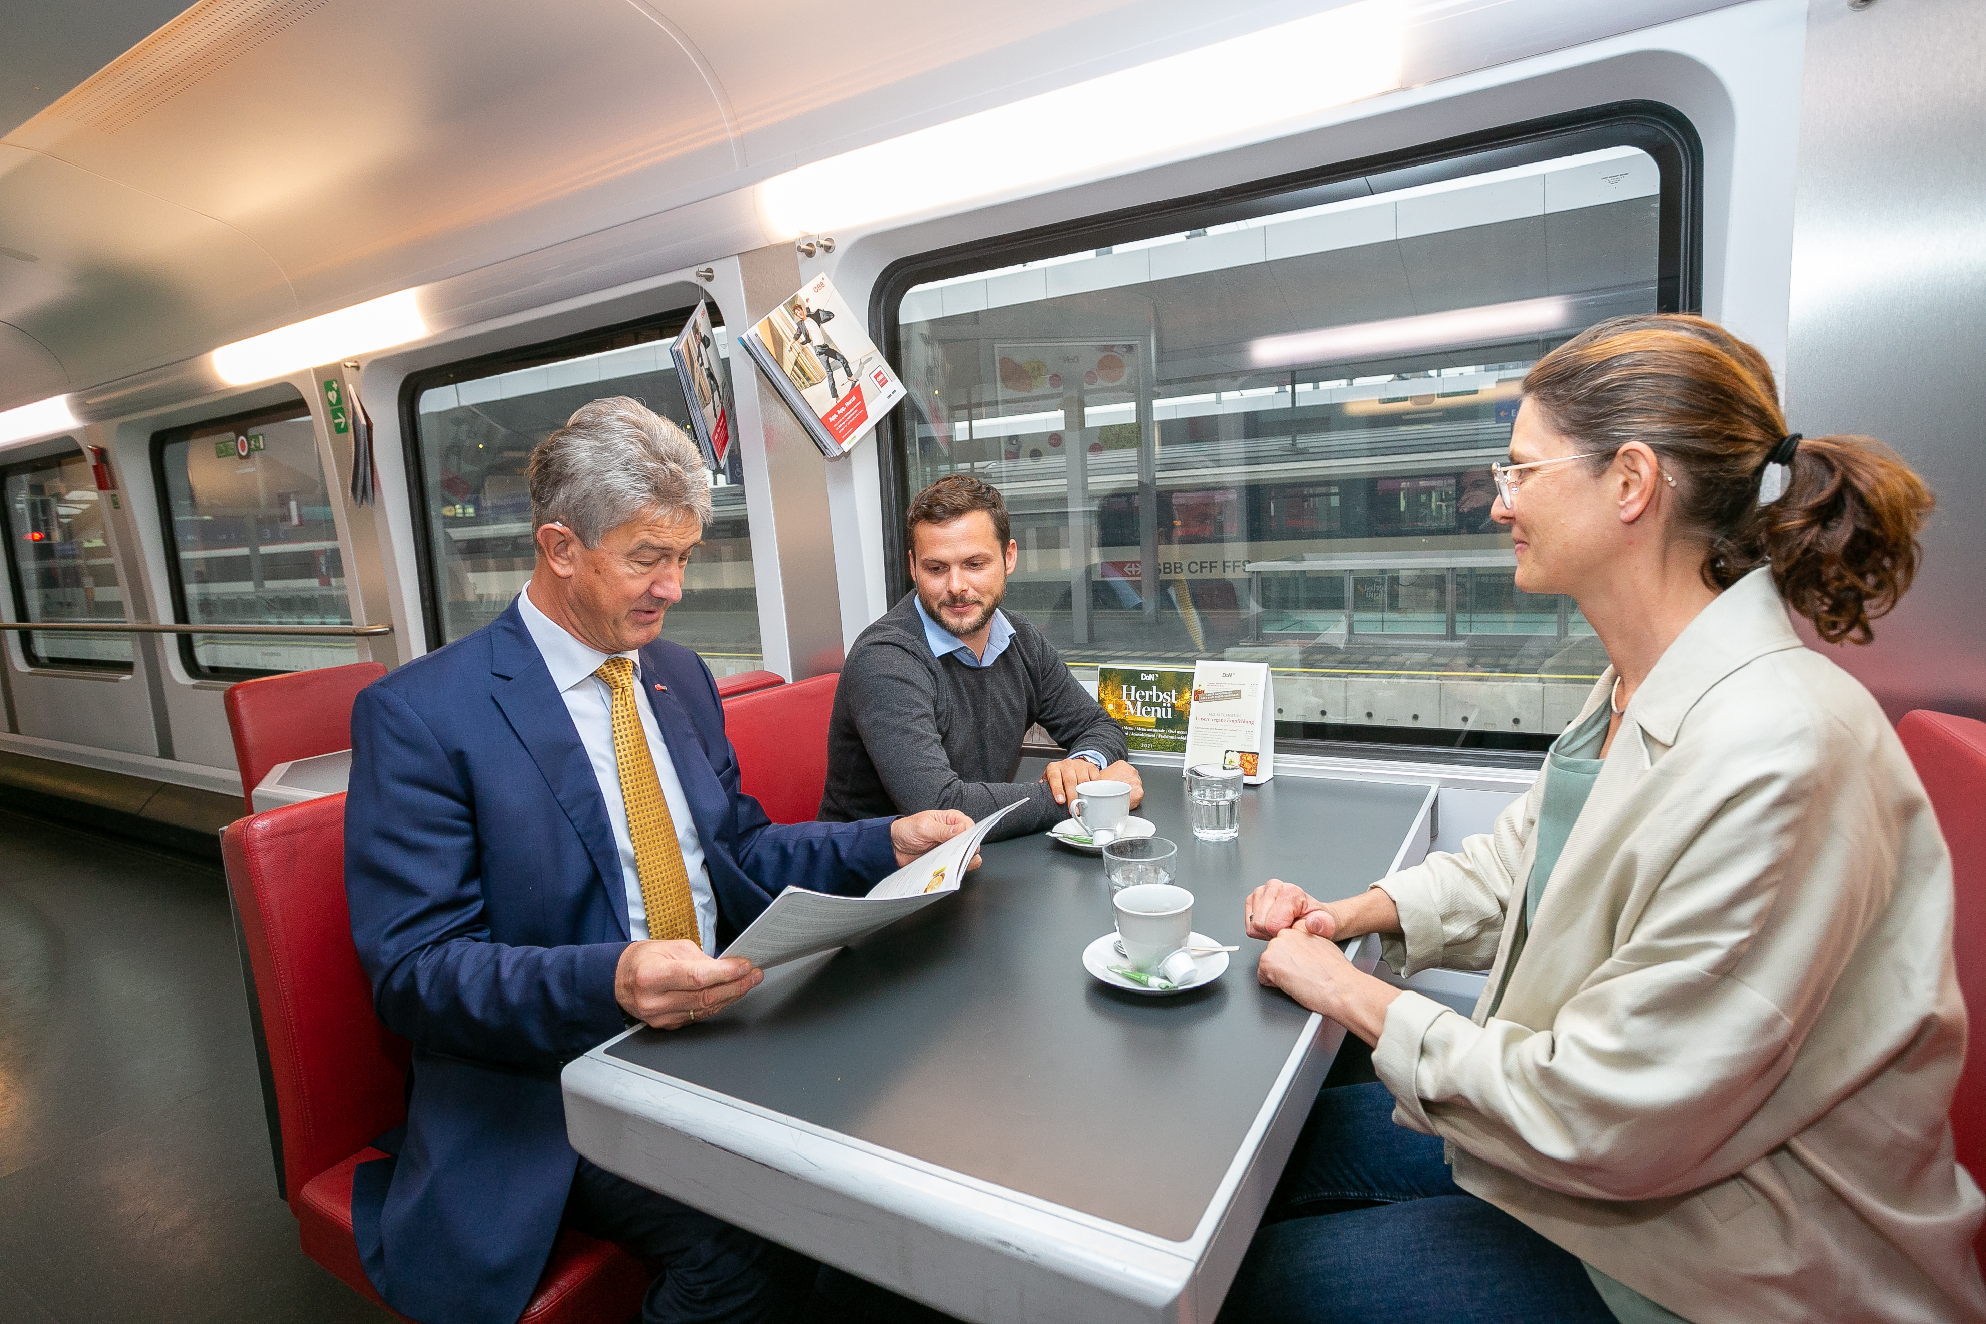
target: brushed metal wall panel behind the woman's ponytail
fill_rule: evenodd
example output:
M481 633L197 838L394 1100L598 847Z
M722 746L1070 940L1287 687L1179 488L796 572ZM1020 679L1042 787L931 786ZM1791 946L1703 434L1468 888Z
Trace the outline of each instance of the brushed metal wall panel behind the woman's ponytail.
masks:
M1815 4L1807 60L1787 423L1879 437L1938 494L1916 586L1827 653L1893 719L1986 719L1986 4Z

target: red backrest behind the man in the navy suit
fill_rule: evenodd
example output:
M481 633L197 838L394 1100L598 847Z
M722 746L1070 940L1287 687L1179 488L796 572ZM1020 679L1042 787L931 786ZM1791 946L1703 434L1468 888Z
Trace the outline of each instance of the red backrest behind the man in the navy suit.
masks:
M290 1209L304 1185L407 1120L407 1040L373 1014L346 907L346 798L250 814L220 836L282 1122Z

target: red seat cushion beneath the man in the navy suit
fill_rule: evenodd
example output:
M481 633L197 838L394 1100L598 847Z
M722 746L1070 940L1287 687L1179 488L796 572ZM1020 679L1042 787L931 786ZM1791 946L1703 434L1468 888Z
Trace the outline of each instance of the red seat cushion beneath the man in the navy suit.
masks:
M304 1185L298 1201L298 1239L304 1255L318 1260L373 1304L383 1304L359 1264L352 1241L352 1173L359 1163L385 1157L359 1149ZM612 1241L600 1241L570 1227L560 1229L552 1258L538 1278L518 1324L624 1324L641 1310L647 1268Z

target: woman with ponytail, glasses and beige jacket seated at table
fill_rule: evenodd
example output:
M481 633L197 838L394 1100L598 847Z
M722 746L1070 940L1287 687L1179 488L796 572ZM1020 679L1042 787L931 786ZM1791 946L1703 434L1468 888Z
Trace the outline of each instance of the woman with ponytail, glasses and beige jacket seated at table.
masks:
M1936 818L1867 643L1930 492L1799 437L1698 318L1525 377L1493 516L1611 667L1456 854L1247 901L1259 979L1374 1046L1325 1090L1223 1320L1986 1320L1946 1114L1966 1008ZM1484 969L1474 1018L1358 973Z

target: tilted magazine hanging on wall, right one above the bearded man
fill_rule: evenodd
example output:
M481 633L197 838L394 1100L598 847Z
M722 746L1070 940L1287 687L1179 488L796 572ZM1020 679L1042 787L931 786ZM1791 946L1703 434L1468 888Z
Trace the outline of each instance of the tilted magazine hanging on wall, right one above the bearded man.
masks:
M848 455L908 395L826 276L808 280L739 343L828 459Z

